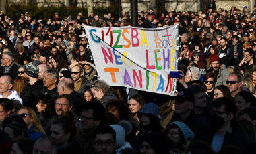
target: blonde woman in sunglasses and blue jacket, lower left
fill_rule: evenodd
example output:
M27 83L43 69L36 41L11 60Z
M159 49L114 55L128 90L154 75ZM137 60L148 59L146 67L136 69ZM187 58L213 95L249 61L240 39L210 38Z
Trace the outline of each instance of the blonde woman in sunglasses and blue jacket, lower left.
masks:
M36 116L36 112L30 107L23 107L18 114L25 121L28 128L28 139L36 141L42 135L45 135L44 129L40 124L40 120Z

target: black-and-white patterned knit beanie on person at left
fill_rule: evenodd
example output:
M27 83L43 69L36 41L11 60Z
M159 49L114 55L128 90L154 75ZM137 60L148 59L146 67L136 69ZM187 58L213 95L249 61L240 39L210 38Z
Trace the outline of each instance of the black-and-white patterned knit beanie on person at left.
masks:
M28 74L28 76L31 76L33 78L38 78L38 72L39 72L39 61L34 60L33 62L30 62L26 64L25 66L25 73Z

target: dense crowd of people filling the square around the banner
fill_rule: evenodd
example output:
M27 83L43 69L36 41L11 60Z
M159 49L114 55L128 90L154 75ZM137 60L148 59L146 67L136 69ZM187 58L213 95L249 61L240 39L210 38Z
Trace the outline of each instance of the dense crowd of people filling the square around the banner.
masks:
M97 78L83 25L127 13L18 22L0 11L0 153L256 153L256 7L141 12L141 28L179 24L174 96Z

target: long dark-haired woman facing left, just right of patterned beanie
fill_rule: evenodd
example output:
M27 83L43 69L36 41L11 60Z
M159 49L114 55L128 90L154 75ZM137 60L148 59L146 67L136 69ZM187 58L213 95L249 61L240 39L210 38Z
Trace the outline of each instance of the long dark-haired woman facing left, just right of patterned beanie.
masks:
M51 64L53 65L53 68L56 68L58 70L58 72L60 72L61 70L69 69L67 62L65 62L60 54L53 55L53 57L51 58Z

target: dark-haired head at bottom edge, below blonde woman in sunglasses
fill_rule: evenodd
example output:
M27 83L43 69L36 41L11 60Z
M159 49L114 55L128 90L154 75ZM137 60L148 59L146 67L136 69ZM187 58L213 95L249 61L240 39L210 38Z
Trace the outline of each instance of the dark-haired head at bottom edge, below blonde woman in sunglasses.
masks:
M18 139L15 141L22 153L32 154L34 141L32 139Z

